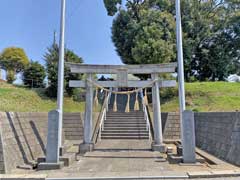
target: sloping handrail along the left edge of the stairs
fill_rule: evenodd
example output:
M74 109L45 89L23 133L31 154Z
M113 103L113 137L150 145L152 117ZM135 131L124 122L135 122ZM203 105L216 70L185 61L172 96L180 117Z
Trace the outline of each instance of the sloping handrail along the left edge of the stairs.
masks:
M93 135L92 135L92 142L93 143L96 143L97 139L99 137L99 133L101 131L100 129L102 128L101 125L102 125L102 122L103 122L103 117L104 116L106 117L106 113L108 111L108 104L109 104L109 98L110 97L111 97L111 93L108 93L107 96L104 99L100 114L98 116L97 123L96 123L94 131L93 131ZM100 134L100 136L101 136L101 134Z

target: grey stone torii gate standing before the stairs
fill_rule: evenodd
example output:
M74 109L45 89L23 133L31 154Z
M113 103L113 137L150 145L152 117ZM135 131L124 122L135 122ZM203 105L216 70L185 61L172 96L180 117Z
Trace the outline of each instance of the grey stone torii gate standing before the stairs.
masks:
M92 138L92 115L93 115L93 84L97 83L102 87L120 88L120 87L152 87L153 119L154 119L154 142L152 149L165 152L166 147L163 144L162 121L160 109L159 88L176 86L175 80L162 81L159 79L161 73L174 73L177 64L144 64L144 65L89 65L68 63L71 73L87 74L85 81L70 81L70 87L86 88L86 108L84 117L84 138L80 145L80 151L91 151L94 147ZM117 74L116 81L94 81L93 74ZM151 74L151 80L130 81L128 74ZM151 82L154 82L150 86Z

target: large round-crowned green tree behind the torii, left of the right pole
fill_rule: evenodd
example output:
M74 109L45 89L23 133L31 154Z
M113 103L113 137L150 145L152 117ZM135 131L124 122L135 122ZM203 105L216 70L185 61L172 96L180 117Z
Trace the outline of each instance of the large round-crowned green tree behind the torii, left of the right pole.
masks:
M174 16L167 11L149 8L146 1L104 1L109 15L118 12L113 21L112 40L125 64L165 63L175 59ZM114 8L115 7L115 8Z

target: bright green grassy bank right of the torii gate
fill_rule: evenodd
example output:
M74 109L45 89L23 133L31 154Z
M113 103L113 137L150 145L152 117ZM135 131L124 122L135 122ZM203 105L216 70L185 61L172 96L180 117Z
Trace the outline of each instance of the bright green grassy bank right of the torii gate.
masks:
M187 109L194 111L240 110L240 83L196 82L186 83ZM167 100L162 98L162 111L178 111L177 88L171 88ZM166 95L166 90L162 92Z

